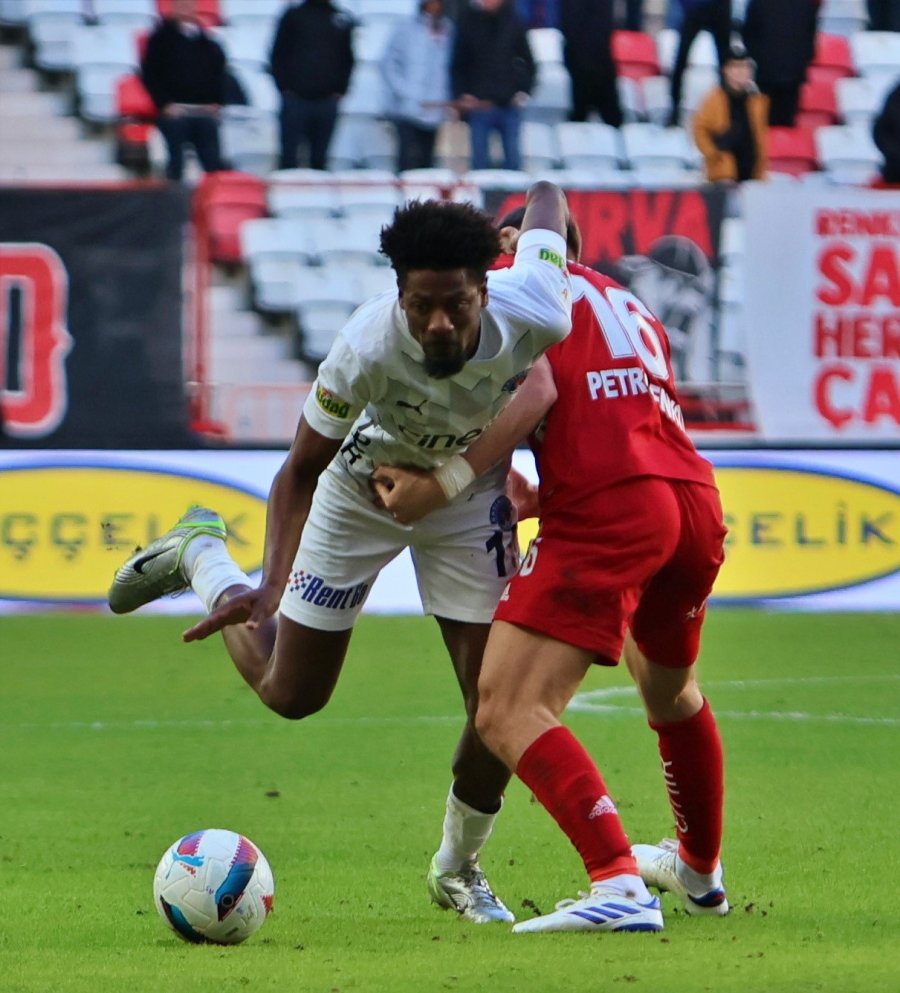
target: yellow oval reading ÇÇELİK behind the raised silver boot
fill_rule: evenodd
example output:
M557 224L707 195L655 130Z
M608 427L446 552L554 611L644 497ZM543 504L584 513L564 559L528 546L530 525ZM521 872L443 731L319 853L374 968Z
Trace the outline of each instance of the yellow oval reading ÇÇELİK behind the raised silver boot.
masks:
M105 599L125 556L192 504L222 515L245 572L260 568L266 503L233 483L177 470L10 467L0 472L0 598Z

